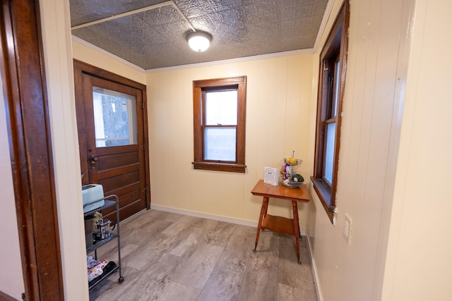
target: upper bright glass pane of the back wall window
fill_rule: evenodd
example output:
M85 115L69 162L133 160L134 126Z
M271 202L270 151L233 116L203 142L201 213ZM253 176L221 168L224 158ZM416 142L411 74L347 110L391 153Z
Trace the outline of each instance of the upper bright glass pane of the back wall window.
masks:
M206 92L206 125L237 125L237 90Z

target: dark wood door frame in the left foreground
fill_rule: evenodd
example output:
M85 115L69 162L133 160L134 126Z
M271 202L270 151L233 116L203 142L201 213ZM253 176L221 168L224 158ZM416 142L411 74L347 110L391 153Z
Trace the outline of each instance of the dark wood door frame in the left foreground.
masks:
M39 2L1 0L0 23L25 297L64 300Z

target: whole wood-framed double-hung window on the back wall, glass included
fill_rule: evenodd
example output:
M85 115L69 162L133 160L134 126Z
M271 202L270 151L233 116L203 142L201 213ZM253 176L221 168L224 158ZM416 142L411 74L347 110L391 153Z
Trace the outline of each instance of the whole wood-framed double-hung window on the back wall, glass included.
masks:
M246 77L194 81L194 168L245 172Z

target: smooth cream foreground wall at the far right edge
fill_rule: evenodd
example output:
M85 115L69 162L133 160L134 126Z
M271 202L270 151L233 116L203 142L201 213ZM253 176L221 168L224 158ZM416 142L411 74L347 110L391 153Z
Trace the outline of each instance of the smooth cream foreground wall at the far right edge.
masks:
M451 11L416 1L383 300L451 300Z

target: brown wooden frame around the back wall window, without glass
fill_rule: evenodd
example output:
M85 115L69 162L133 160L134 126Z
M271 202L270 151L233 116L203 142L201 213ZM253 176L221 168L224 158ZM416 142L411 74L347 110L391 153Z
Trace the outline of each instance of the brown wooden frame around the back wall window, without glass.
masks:
M236 161L215 162L203 159L203 93L209 88L230 89L237 87L237 136ZM194 111L194 161L195 169L208 171L227 171L245 173L245 125L246 125L246 76L234 78L216 78L213 80L194 80L193 82Z

